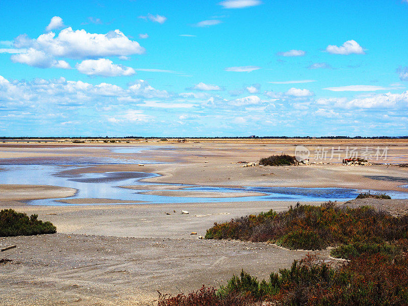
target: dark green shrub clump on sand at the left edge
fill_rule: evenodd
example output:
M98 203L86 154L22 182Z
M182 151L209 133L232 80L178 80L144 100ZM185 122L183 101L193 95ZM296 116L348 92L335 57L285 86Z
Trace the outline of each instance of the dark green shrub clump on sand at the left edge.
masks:
M38 215L27 216L12 209L0 211L0 237L54 234L57 227L51 222L37 220Z

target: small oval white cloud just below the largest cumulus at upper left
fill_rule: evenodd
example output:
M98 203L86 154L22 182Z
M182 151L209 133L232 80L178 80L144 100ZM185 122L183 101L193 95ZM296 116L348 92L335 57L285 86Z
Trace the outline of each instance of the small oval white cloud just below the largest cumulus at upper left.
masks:
M117 77L119 75L132 75L136 73L135 69L116 65L108 59L85 60L77 64L75 68L81 73L101 75L103 77Z

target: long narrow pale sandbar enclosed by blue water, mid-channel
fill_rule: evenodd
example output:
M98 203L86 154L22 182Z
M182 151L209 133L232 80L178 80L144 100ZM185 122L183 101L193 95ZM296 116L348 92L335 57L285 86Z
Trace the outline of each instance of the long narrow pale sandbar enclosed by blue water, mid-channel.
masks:
M223 197L244 197L244 196L261 196L266 195L261 192L211 192L211 191L194 191L194 190L152 190L141 192L141 194L163 195L163 196L181 196L181 197L207 197L207 198L223 198Z

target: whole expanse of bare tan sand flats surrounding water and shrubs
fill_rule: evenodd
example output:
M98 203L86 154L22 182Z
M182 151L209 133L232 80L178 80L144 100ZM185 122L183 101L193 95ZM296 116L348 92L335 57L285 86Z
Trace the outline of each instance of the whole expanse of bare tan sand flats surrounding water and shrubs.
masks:
M197 141L197 140L195 140ZM405 140L199 140L199 143L120 143L123 146L156 145L159 149L140 152L142 160L162 164L94 165L63 171L62 175L92 172L144 171L162 176L144 179L153 192L186 192L176 183L205 186L291 186L347 187L371 190L399 190L408 184L408 168L397 166L342 166L339 164L302 167L241 167L238 161L255 162L260 157L286 152L297 144L389 145L390 161L407 162ZM64 154L73 158L112 157L134 159L109 150L117 144L50 142L48 144L1 144L1 157L13 161L16 151L25 161L38 156ZM57 150L57 151L56 151ZM4 160L3 160L4 161ZM170 164L165 164L170 163ZM263 175L266 174L266 175ZM122 175L122 174L121 174ZM4 186L4 185L2 185ZM0 264L0 305L137 305L149 304L163 293L188 292L202 284L217 287L241 268L264 278L271 271L289 267L305 251L290 251L262 243L198 240L214 222L269 209L282 211L294 202L220 202L146 205L27 206L24 199L69 196L72 190L52 186L1 187L0 209L14 208L38 214L57 226L57 234L0 238L0 246L17 244L2 252L12 262ZM132 187L139 189L137 186ZM7 191L7 189L9 191ZM38 190L37 190L38 189ZM179 190L181 189L181 190ZM7 191L7 192L6 192ZM39 192L40 191L40 194ZM69 192L68 192L69 191ZM50 194L50 193L51 194ZM62 194L62 193L64 194ZM187 191L188 192L188 191ZM36 197L33 197L36 196ZM64 201L72 202L71 199ZM109 199L77 199L77 203L109 202ZM406 212L407 200L364 200L394 214ZM314 202L312 204L319 204ZM181 214L189 211L188 215ZM174 213L175 211L175 213ZM167 215L167 214L170 215ZM190 235L197 232L197 235ZM319 252L326 258L328 251Z

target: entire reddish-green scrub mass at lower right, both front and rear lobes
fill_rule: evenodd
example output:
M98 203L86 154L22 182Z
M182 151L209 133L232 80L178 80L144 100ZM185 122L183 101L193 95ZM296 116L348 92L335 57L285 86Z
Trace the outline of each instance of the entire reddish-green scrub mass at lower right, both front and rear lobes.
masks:
M408 305L408 215L335 202L296 205L215 223L206 238L273 241L289 248L337 246L334 266L308 254L290 269L258 281L244 271L218 290L202 287L189 295L161 295L159 306L190 305Z

